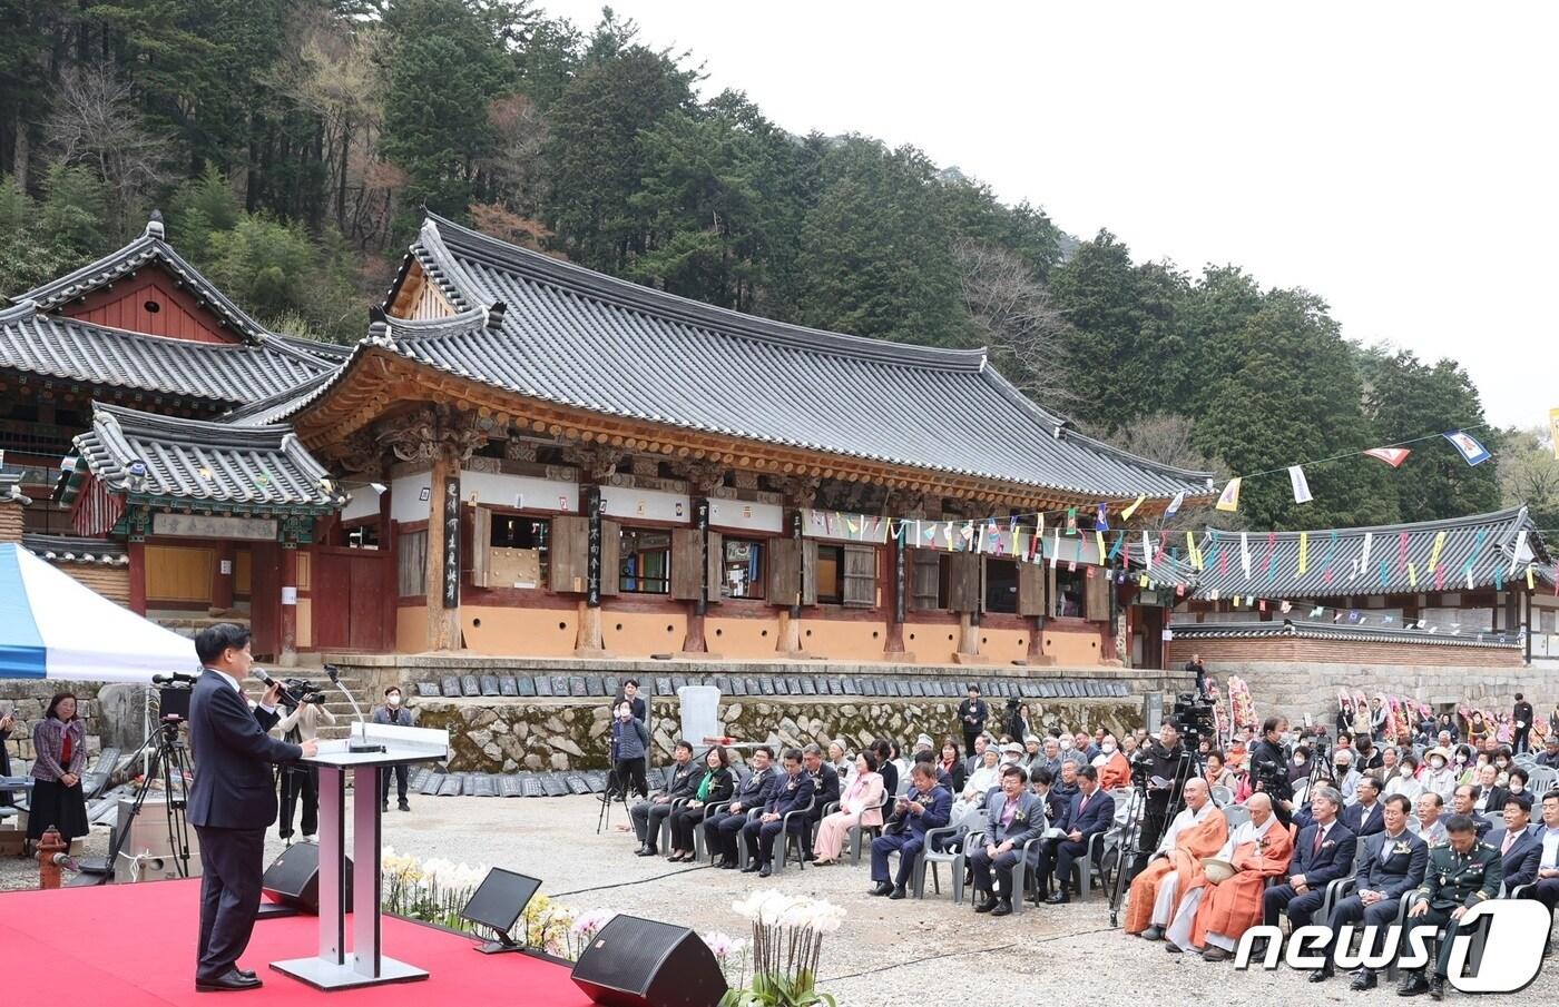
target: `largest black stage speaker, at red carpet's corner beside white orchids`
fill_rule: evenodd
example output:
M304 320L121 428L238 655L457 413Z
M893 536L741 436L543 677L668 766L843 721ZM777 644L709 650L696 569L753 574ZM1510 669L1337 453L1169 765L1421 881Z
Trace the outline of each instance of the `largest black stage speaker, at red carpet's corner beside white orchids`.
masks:
M613 917L574 963L578 988L606 1007L716 1007L725 976L684 926Z

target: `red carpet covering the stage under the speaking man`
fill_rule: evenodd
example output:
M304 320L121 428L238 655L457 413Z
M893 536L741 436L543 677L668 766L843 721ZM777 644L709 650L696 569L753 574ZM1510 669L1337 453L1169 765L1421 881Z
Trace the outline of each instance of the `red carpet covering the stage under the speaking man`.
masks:
M563 965L525 954L477 954L471 937L388 915L385 952L426 968L426 980L321 993L273 971L271 962L318 951L318 920L287 917L257 923L243 956L242 965L259 973L263 988L196 993L198 906L200 881L6 892L0 895L5 1001L48 1007L591 1007Z

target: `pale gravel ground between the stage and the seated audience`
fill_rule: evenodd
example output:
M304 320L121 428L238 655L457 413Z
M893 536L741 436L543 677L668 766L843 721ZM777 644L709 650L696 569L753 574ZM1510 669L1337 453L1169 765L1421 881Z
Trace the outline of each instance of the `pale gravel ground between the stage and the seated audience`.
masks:
M744 935L744 921L731 912L731 903L759 884L828 898L845 906L848 915L825 945L820 987L851 1007L963 1004L993 995L1004 1004L1116 999L1197 1004L1210 995L1219 1007L1403 1002L1389 987L1353 993L1345 977L1316 985L1286 968L1236 973L1228 963L1166 954L1163 945L1112 932L1102 898L1029 907L1016 917L992 920L974 915L968 903L953 906L946 889L940 896L928 893L924 901L871 898L865 893L870 884L865 860L859 867L847 862L804 871L790 868L759 882L751 874L635 857L631 832L610 828L596 834L599 807L588 797L413 797L410 814L385 815L385 842L399 853L539 876L543 893L561 896L575 909L613 909L691 926L700 934ZM613 826L625 823L622 806L613 806ZM89 840L94 853L106 845L103 829ZM281 848L273 831L267 856ZM34 864L16 857L0 862L0 887L36 884ZM1522 996L1489 996L1478 1002L1559 1004L1551 970L1553 962ZM1450 999L1470 1001L1458 993Z

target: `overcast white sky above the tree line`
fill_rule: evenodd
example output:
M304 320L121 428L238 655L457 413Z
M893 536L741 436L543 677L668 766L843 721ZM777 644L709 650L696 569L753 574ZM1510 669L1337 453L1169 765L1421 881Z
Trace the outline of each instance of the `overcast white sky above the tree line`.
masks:
M543 0L589 28L599 0ZM1559 405L1559 5L617 0L705 97L857 131L1108 228L1233 262L1344 334L1459 360L1490 421Z

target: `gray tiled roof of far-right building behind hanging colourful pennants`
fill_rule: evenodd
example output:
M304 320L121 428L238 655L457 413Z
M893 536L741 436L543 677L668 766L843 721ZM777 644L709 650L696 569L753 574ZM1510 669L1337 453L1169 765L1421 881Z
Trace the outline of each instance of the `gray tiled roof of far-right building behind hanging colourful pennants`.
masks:
M1325 599L1358 594L1406 594L1436 589L1436 575L1430 572L1430 556L1434 550L1436 535L1445 532L1445 546L1441 549L1441 564L1445 567L1445 591L1467 588L1467 560L1476 553L1473 563L1473 586L1489 588L1497 580L1511 580L1511 560L1515 549L1517 533L1526 528L1528 539L1523 555L1517 558L1517 577L1525 577L1528 563L1534 558L1547 564L1550 556L1542 538L1532 530L1531 518L1525 507L1494 511L1490 514L1473 514L1450 521L1426 521L1419 524L1392 524L1372 528L1325 528L1308 532L1308 561L1305 575L1299 571L1299 532L1278 532L1274 552L1272 571L1266 572L1267 536L1266 532L1250 532L1250 577L1246 578L1239 552L1239 532L1208 530L1202 539L1202 555L1207 567L1197 574L1197 597L1219 597L1235 594L1253 594L1272 597L1277 591L1289 599ZM1331 536L1336 535L1333 550ZM1359 569L1364 550L1364 536L1370 536L1369 564ZM1400 560L1402 536L1408 536L1406 561ZM1483 547L1478 549L1479 535ZM1214 553L1214 549L1218 550ZM1331 553L1328 578L1327 555ZM1227 555L1227 564L1222 556ZM1381 563L1386 564L1386 578L1381 583ZM1408 563L1417 574L1417 586L1408 577ZM1547 575L1547 567L1542 569Z

